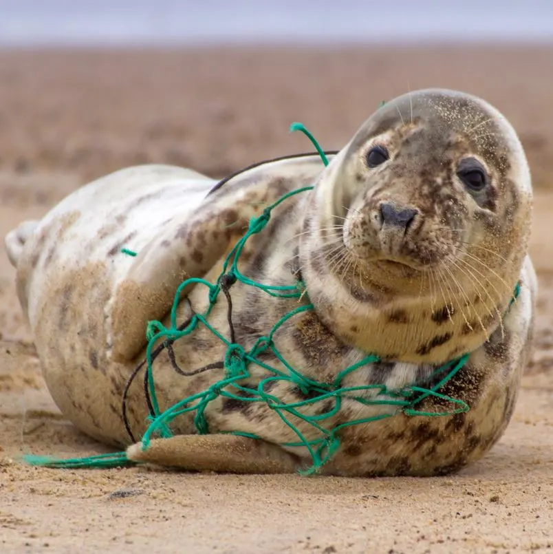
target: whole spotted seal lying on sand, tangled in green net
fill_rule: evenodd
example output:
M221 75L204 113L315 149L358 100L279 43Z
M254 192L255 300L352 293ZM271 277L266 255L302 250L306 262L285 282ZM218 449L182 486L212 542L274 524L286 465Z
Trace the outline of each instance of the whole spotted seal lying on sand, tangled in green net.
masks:
M213 282L252 217L313 185L276 206L240 258L249 279L292 286L301 278L305 295L274 299L237 282L234 341L252 348L283 315L312 303L314 310L296 313L273 337L283 359L307 379L332 383L344 367L374 353L380 361L347 374L344 386L429 386L436 367L470 353L440 389L468 404L468 412L433 418L400 412L344 425L340 447L321 472L432 476L481 458L508 425L532 343L532 187L517 134L480 98L426 89L380 107L329 158L327 167L314 155L263 162L219 184L177 167L123 169L8 234L21 306L64 416L104 443L128 447L131 460L245 473L305 467L307 449L293 444L292 429L269 405L248 403L246 393L243 401L218 396L208 404L210 434L198 435L192 414L184 414L171 423L175 436L154 439L145 450L125 430L121 398L144 359L147 322L168 322L183 279ZM199 285L182 298L179 323L209 304ZM230 340L226 304L215 303L209 318ZM158 356L160 408L223 379L225 353L203 327L175 341L173 361L184 372L173 370L169 352ZM264 355L286 371L270 351ZM266 376L263 367L250 367L244 385L256 387ZM138 381L127 390L133 437L147 428ZM285 403L305 401L291 381L274 381L271 394ZM440 412L444 402L428 396L420 409ZM331 407L307 403L304 410L316 415ZM345 396L321 425L395 411ZM297 427L316 439L316 429L301 420ZM229 434L237 430L245 436Z

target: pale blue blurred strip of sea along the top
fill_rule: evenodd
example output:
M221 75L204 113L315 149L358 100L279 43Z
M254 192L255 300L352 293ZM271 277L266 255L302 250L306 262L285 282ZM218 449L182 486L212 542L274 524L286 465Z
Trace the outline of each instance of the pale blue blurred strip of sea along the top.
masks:
M0 45L552 42L552 0L0 0Z

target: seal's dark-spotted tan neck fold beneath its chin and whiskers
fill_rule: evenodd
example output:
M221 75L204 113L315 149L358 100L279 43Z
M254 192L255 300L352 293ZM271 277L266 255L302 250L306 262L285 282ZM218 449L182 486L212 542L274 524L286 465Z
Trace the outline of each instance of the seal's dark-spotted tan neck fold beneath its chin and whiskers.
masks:
M303 254L303 253L301 253ZM356 286L327 266L303 257L302 277L315 311L345 343L382 359L444 363L484 344L501 326L504 306L484 300L470 308L459 295L422 290L391 292L384 286ZM467 295L476 291L467 290Z

